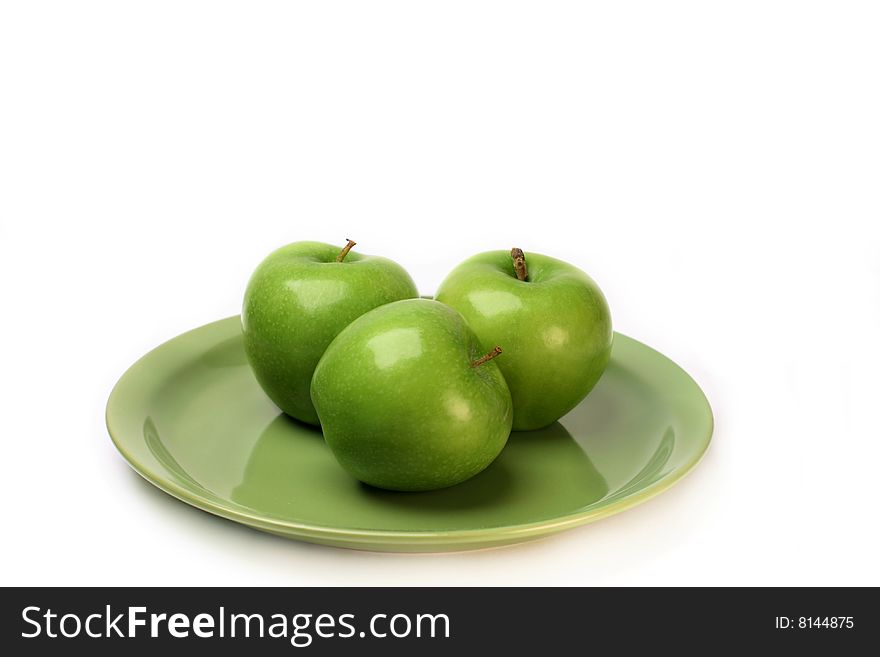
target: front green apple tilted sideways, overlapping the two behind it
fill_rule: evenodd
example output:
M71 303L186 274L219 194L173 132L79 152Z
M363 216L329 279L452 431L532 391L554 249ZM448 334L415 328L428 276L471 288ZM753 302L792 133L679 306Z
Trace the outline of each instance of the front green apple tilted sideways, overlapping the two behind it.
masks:
M324 439L342 467L372 486L415 491L465 481L510 434L499 353L482 355L461 315L436 301L371 310L315 368L312 401Z

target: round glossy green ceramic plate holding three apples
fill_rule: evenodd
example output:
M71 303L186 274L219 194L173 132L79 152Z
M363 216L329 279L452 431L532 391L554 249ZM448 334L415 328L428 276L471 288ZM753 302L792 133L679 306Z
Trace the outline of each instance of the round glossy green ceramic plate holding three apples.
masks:
M706 451L712 411L675 363L626 336L580 406L513 433L483 473L445 490L370 488L321 433L280 414L245 360L238 317L151 351L122 377L107 427L174 497L263 531L365 550L443 551L530 540L644 502Z

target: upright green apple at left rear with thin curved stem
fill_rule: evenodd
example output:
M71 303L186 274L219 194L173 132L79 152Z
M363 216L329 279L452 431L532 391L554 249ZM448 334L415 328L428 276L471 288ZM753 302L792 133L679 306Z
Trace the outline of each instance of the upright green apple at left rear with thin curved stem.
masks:
M368 310L418 296L403 267L353 252L354 244L283 246L260 263L244 295L244 348L257 381L282 411L310 424L318 415L309 385L327 345Z

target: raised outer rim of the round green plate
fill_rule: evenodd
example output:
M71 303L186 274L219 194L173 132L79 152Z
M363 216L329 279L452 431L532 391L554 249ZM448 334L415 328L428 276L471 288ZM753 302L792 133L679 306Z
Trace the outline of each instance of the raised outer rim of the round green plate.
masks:
M699 394L701 399L701 408L705 411L705 420L707 426L705 435L700 437L700 446L690 455L688 460L676 467L668 475L649 484L645 488L638 489L624 495L622 498L611 502L610 504L599 506L595 509L585 509L566 513L561 516L545 518L529 523L519 523L513 525L503 525L498 527L481 527L468 529L447 529L447 530L384 530L357 527L334 527L332 525L317 525L313 523L298 522L294 520L285 520L273 518L259 513L250 513L248 511L233 508L232 503L229 505L218 504L209 497L200 495L197 491L187 488L184 485L176 483L172 478L163 476L162 472L154 472L152 468L140 462L130 451L126 449L124 440L121 437L122 430L114 428L114 418L116 407L120 403L120 397L124 392L124 388L131 384L131 379L137 374L137 371L146 365L146 362L155 356L156 352L162 350L169 344L183 338L191 336L191 334L202 331L208 327L217 324L238 320L240 315L231 315L223 319L208 322L201 326L195 327L188 331L184 331L168 340L165 340L158 346L149 350L132 365L130 365L119 380L114 384L104 411L104 420L110 439L117 451L122 455L126 463L135 472L137 472L145 480L156 486L163 492L171 495L175 499L180 500L199 510L211 513L212 515L238 522L239 524L256 528L273 534L283 535L291 538L302 538L305 540L312 539L320 541L321 539L332 541L334 545L346 547L358 547L359 549L374 549L381 551L382 548L376 547L378 542L393 544L395 547L413 548L437 546L441 547L449 544L467 545L479 543L481 546L491 547L493 545L504 545L509 543L522 542L531 538L538 538L552 533L560 532L566 529L585 525L597 520L601 520L611 515L615 515L626 509L633 508L657 495L665 492L670 487L680 482L686 475L691 473L694 468L703 460L709 446L712 443L715 429L715 418L709 400L703 392L699 384L688 372L678 363L668 356L662 354L656 349L644 344L627 335L614 332L615 340L618 337L635 343L640 348L653 352L655 356L665 360L668 364L677 369L692 385L694 390ZM363 544L367 547L361 547ZM467 549L467 548L464 548ZM472 549L472 548L471 548Z

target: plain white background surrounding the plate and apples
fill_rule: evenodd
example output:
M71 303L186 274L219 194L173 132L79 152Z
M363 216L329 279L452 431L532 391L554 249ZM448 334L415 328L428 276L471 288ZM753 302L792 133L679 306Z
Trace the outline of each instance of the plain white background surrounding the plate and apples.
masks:
M2 584L880 584L871 2L28 2L0 9ZM264 535L103 423L144 352L299 239L431 293L518 245L704 388L678 486L519 547Z

